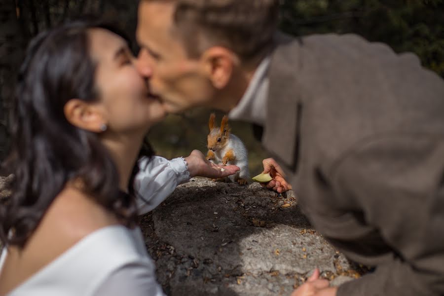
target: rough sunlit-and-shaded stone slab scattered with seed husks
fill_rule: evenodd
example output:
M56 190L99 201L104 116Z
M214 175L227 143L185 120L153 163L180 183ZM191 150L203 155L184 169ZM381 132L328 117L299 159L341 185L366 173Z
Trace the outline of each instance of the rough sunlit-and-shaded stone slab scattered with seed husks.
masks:
M311 228L293 191L192 179L141 225L171 296L290 295L315 267L332 285L360 276Z

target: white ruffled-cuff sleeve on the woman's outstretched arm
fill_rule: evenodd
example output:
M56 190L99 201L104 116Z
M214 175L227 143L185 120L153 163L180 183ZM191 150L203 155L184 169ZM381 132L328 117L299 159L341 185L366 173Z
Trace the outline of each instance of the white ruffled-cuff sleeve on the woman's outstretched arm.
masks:
M189 181L189 172L183 157L168 160L153 156L139 160L140 171L134 180L138 192L139 215L146 214L164 201L177 185Z

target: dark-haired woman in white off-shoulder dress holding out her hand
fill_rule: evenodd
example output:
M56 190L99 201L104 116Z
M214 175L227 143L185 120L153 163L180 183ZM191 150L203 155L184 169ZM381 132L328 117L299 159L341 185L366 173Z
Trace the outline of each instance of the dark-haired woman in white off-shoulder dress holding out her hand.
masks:
M148 161L144 137L164 111L133 61L104 24L78 21L32 40L13 114L13 194L0 205L0 296L163 295L138 211L190 176L238 169L221 171L196 150ZM148 200L139 210L133 184Z

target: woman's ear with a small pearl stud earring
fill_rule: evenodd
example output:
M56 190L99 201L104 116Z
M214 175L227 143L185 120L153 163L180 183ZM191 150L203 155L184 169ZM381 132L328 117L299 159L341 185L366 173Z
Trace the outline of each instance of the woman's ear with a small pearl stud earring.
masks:
M65 117L72 125L95 133L103 132L106 121L97 106L79 99L71 99L63 108Z

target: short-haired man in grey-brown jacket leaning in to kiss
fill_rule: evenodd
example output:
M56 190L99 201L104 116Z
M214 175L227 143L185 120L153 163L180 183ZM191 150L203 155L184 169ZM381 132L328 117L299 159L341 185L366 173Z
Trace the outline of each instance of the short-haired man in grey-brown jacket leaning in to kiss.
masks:
M278 2L141 0L140 73L169 112L262 126L316 229L376 266L339 288L315 273L295 296L444 295L443 80L356 35L280 35Z

